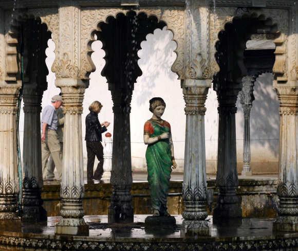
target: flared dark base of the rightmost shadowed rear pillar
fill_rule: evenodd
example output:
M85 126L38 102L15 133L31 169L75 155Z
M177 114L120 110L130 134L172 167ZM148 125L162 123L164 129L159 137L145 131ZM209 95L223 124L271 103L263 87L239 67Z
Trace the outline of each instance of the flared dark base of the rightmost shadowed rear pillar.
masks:
M228 194L232 191L227 192ZM241 198L237 195L227 195L220 193L217 199L217 205L213 210L213 218L215 219L229 219L241 218Z

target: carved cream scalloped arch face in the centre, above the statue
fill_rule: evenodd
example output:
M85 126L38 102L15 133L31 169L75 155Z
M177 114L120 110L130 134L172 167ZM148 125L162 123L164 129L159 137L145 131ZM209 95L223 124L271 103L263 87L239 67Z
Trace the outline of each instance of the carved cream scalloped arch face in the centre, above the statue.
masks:
M81 10L81 69L80 78L89 79L89 74L95 71L95 65L91 60L92 42L96 41L94 34L99 30L100 23L106 23L109 16L116 16L119 13L127 14L129 10L120 8L100 9L88 8ZM134 10L137 15L144 13L147 18L155 16L158 22L163 22L167 26L167 30L173 33L173 41L176 42L177 47L175 53L177 55L175 62L172 65L172 71L177 73L179 79L184 77L184 8L183 7L167 7L167 8L141 8ZM90 29L91 27L91 29Z

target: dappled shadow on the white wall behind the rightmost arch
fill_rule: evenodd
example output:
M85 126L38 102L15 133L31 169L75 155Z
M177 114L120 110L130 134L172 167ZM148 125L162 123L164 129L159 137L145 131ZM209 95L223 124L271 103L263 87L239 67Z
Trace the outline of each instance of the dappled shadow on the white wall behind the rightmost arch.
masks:
M255 81L253 91L255 100L252 103L250 116L250 140L251 148L258 146L266 147L277 158L279 151L278 140L280 137L280 114L278 111L279 102L277 94L272 87L272 81L273 75L271 73L262 74ZM239 113L241 113L239 124L242 126L241 137L243 138L244 117L239 99L237 108Z

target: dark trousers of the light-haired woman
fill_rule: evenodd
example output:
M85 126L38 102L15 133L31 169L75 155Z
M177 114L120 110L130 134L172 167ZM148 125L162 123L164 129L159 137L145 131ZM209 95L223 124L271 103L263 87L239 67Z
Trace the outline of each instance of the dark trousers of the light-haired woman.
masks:
M87 147L87 181L100 180L103 174L103 147L100 141L86 141ZM95 155L99 161L93 175Z

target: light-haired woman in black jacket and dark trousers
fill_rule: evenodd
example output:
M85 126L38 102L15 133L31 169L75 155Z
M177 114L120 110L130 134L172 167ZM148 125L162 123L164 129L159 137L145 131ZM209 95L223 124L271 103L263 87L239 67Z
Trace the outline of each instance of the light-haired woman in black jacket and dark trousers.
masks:
M103 174L103 146L101 144L102 136L109 126L109 122L100 123L98 114L102 109L102 104L99 101L94 101L89 106L90 113L86 116L86 148L87 148L87 183L92 180L100 181ZM93 174L95 156L99 163Z

